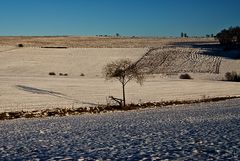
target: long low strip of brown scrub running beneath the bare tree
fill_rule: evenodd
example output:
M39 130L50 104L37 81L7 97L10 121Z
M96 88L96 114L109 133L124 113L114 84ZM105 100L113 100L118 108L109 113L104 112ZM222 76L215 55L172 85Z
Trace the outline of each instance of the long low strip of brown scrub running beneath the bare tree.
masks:
M173 101L163 101L163 102L146 102L142 104L129 104L126 107L121 106L106 106L99 105L97 107L78 107L78 108L55 108L55 109L45 109L45 110L35 110L35 111L16 111L16 112L3 112L0 113L0 120L10 120L17 118L44 118L44 117L61 117L69 115L81 115L84 113L105 113L108 111L128 111L128 110L138 110L151 107L164 107L169 105L181 105L181 104L193 104L201 102L216 102L223 101L227 99L239 98L237 96L233 97L216 97L216 98L204 98L199 100L173 100Z

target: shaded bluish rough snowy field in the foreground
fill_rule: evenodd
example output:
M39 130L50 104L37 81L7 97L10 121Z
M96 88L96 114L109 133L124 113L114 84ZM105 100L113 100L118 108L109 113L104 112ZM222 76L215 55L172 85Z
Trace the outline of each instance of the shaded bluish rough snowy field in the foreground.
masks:
M0 122L0 160L239 160L240 99Z

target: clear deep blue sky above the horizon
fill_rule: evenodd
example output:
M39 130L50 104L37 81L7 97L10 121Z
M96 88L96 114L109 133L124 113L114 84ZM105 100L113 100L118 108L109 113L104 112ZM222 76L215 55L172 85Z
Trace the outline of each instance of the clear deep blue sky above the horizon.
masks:
M0 0L0 35L190 36L240 25L240 0Z

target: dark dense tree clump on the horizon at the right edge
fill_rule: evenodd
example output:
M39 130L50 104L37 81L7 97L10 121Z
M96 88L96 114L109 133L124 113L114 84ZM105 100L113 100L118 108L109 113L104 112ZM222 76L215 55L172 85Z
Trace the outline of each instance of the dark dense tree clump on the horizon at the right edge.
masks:
M240 27L230 27L224 29L216 35L220 44L226 49L233 49L240 47Z

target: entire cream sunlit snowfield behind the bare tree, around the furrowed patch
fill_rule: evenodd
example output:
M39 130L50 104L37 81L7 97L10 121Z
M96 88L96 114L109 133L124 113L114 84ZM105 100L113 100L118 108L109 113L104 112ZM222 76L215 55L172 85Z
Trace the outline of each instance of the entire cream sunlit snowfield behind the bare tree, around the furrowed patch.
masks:
M103 66L120 58L137 61L147 51L147 48L0 47L0 112L92 106L106 104L106 98L110 95L121 98L119 82L105 81L102 76ZM209 56L207 58L215 60ZM174 60L174 63L178 60L180 59ZM134 82L127 85L127 102L239 95L239 83L209 79L219 79L226 71L239 72L239 65L239 60L221 58L220 74L195 73L191 74L193 80L179 80L177 75L175 78L163 78L161 74L151 75L143 86ZM55 72L56 76L49 76L49 72ZM68 76L59 76L59 73L67 73ZM82 73L84 76L80 76Z

